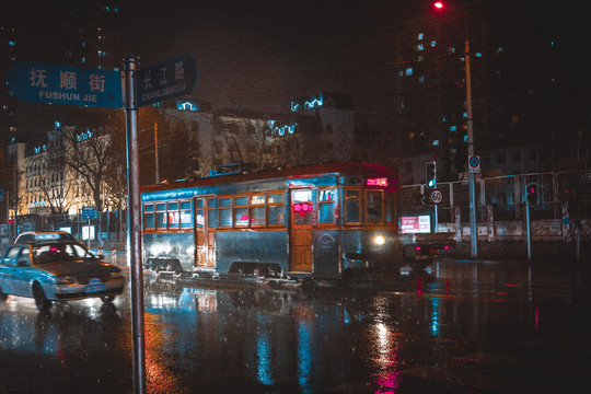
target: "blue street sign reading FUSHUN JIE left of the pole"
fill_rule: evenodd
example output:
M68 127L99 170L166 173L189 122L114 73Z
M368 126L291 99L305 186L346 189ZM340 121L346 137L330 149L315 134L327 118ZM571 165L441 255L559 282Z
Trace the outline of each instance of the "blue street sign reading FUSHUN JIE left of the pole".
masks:
M80 67L18 62L9 71L16 97L46 104L121 108L121 73Z

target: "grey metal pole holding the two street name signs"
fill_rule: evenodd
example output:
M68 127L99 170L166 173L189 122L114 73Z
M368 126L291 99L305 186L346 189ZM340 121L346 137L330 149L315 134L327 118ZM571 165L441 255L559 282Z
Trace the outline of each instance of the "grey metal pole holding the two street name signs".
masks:
M146 393L146 340L143 322L143 271L141 264L141 216L139 192L138 105L136 70L138 58L127 55L125 70L125 115L127 139L127 189L129 207L129 247L131 275L131 334L134 352L134 393Z

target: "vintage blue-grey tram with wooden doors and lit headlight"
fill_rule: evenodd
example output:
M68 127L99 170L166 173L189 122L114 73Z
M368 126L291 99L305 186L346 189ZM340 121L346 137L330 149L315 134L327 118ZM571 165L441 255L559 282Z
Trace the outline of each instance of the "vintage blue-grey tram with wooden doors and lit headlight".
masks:
M397 182L380 165L336 162L250 173L227 165L144 186L143 262L297 279L387 267L397 250Z

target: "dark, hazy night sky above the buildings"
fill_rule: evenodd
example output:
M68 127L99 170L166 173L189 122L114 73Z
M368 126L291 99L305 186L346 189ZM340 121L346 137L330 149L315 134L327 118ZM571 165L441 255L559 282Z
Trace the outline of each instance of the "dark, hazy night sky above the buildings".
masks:
M30 21L40 53L51 47L53 23L67 3L31 1L3 18L20 12ZM192 54L199 73L192 95L210 101L213 108L287 112L291 99L337 91L352 94L358 109L380 112L387 108L390 94L383 80L395 72L395 34L403 21L430 12L430 3L130 0L119 2L123 31L117 42L121 54L140 56L140 67ZM484 13L510 4L515 23L531 22L536 34L565 48L565 68L584 71L577 53L588 36L582 33L586 24L579 24L582 10L519 0L480 3Z

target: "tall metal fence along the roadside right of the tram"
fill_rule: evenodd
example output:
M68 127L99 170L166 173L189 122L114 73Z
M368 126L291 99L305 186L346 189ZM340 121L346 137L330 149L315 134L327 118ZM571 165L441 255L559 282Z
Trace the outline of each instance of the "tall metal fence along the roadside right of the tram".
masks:
M525 186L537 185L537 202L532 205L532 219L591 218L591 171L552 172L494 177L476 177L477 221L521 220L525 202ZM455 221L455 209L461 211L461 220L470 220L468 181L441 182L437 189L443 195L437 206L439 222ZM424 184L401 187L401 212L432 212L429 202L432 192ZM487 207L491 207L489 209Z

